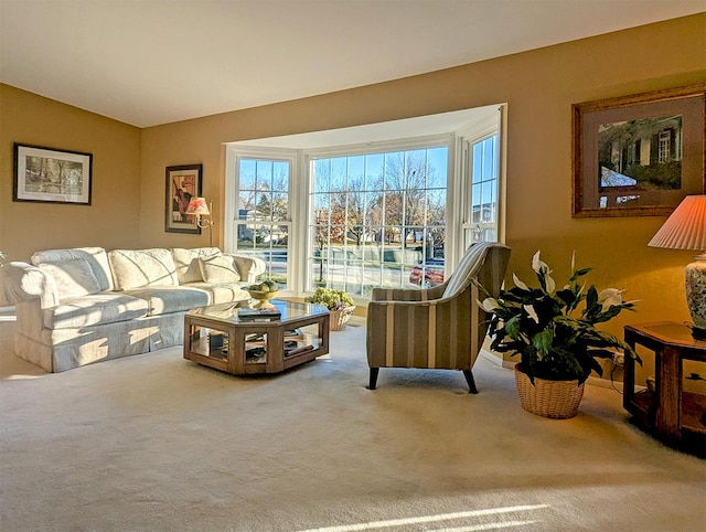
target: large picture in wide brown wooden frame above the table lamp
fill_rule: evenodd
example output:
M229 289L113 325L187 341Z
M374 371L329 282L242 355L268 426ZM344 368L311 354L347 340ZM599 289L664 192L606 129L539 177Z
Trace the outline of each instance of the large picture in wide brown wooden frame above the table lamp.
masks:
M667 215L706 192L706 85L575 104L574 217Z

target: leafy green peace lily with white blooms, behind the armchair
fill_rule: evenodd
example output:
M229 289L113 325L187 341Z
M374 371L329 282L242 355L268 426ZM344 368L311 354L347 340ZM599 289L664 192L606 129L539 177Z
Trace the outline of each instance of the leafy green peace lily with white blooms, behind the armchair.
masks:
M616 336L600 331L597 323L609 321L623 309L632 310L637 301L623 301L622 291L606 288L586 289L582 277L591 268L575 267L561 289L556 289L552 270L539 258L532 258L532 269L539 286L531 288L513 274L514 287L488 297L481 307L492 313L489 324L491 348L498 352L520 354L517 369L530 377L584 383L591 371L602 375L597 359L612 359L616 350L642 363L638 354ZM581 283L582 281L582 283ZM482 288L482 287L481 287ZM579 307L582 307L579 309Z

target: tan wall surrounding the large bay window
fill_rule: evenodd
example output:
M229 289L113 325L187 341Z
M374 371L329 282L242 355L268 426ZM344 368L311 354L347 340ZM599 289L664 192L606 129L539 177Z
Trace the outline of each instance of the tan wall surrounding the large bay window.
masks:
M142 237L162 231L164 167L202 162L204 194L223 213L222 142L339 128L509 104L507 244L511 270L530 280L536 249L566 279L571 252L589 280L642 299L610 323L686 320L683 267L689 252L653 249L664 217L571 219L571 104L703 83L706 14L575 41L395 82L148 128L142 135ZM649 53L645 53L649 51ZM223 220L216 226L223 230ZM195 244L195 236L169 242ZM203 244L207 236L201 236Z

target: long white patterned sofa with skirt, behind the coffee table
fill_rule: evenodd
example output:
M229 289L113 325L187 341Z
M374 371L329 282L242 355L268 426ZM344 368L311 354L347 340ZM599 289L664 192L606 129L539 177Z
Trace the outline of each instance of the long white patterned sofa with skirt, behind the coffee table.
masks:
M15 353L50 372L140 354L183 341L186 310L249 299L261 260L217 247L82 247L0 268L15 304Z

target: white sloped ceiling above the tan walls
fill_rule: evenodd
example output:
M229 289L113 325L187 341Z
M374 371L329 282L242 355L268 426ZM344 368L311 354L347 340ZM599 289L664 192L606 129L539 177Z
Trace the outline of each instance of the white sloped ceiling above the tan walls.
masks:
M0 0L0 81L138 127L706 11L706 0Z

